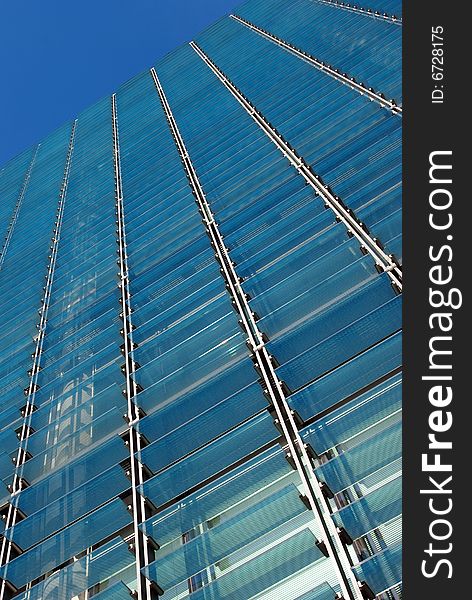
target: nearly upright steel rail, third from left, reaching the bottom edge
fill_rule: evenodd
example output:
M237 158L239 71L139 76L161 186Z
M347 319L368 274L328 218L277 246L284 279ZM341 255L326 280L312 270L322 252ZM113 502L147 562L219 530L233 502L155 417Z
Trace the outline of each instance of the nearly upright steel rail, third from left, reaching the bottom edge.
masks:
M115 214L119 256L118 263L120 267L120 316L123 325L122 331L124 338L125 358L124 375L126 379L126 387L124 393L126 395L128 404L128 413L126 417L128 422L128 443L130 451L134 551L136 556L136 593L138 600L152 600L153 598L155 598L155 595L153 595L153 591L151 589L151 582L141 573L141 569L147 566L150 560L147 536L139 528L139 526L146 520L146 504L144 497L141 494L139 494L137 490L137 486L144 483L144 472L142 463L138 458L136 458L136 453L138 453L139 455L139 453L141 452L141 436L136 429L136 425L139 424L140 420L140 411L138 405L136 404L138 386L135 379L136 367L133 356L133 326L131 323L130 311L131 294L129 288L128 256L126 251L126 228L123 204L123 187L121 178L120 142L118 132L118 112L116 104L116 94L113 94L111 97L111 110L113 129L113 164L115 175Z

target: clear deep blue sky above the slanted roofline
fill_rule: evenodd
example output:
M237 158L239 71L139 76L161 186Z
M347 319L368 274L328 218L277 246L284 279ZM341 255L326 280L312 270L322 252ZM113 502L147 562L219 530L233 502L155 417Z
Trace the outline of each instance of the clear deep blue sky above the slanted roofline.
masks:
M239 3L0 2L0 165Z

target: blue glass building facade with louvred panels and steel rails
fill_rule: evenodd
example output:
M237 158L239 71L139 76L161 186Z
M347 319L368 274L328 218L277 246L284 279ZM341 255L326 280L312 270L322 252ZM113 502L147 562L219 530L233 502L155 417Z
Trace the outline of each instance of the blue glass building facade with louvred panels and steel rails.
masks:
M0 599L401 598L401 5L249 0L0 170Z

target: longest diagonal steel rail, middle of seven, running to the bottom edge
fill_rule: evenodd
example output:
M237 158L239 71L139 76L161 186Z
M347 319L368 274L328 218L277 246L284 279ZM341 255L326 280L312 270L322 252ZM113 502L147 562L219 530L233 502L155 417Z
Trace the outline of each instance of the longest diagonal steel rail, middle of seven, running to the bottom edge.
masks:
M234 264L229 256L229 251L224 245L223 237L215 222L211 207L197 177L154 67L151 68L150 72L186 175L189 179L195 201L203 215L202 220L206 226L207 234L210 237L211 245L215 250L215 257L221 265L221 273L226 280L230 294L235 302L236 310L241 318L242 327L248 336L248 346L262 373L265 391L270 395L272 400L272 405L277 414L284 438L302 481L310 507L314 515L316 515L320 530L325 536L325 545L328 555L332 559L342 593L346 600L362 600L358 582L350 568L348 557L338 532L336 531L334 522L330 517L326 500L321 491L319 482L314 475L308 453L298 432L293 413L287 403L281 382L275 373L271 356L265 346L264 335L256 324L254 314L248 304L247 296L241 287L241 280L235 271ZM333 540L336 540L336 543Z

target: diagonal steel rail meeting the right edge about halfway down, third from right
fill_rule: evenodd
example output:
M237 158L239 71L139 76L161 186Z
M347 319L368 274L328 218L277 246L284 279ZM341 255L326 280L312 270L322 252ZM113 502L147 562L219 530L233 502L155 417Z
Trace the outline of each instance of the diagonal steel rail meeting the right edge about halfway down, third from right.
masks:
M244 96L234 83L217 67L217 65L205 54L205 52L195 43L190 42L190 46L197 55L207 65L207 67L216 75L226 89L241 104L248 115L259 125L267 137L277 146L288 161L296 168L300 175L305 179L315 191L316 195L324 201L325 206L330 208L336 219L346 226L348 233L355 237L360 244L361 249L370 254L374 259L375 265L379 271L388 274L392 285L399 292L402 290L402 270L395 258L387 254L376 238L372 238L366 225L362 223L337 196L321 177L314 173L305 159L285 141L285 139L276 131L269 121L260 113L252 102Z

